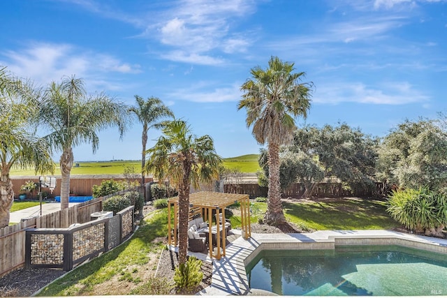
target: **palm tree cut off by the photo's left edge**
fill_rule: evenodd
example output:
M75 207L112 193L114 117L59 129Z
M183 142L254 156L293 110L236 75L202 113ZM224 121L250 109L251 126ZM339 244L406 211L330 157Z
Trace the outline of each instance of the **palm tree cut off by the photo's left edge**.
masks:
M29 85L0 69L0 228L9 224L14 200L10 169L34 167L36 173L54 170L47 142L36 137L29 121L35 112L29 91Z

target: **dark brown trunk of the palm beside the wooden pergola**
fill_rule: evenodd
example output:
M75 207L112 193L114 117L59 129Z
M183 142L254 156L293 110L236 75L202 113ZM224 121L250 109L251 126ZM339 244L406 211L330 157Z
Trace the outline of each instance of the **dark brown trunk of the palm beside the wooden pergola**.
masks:
M186 262L188 251L189 174L191 165L184 162L183 179L179 187L179 264Z

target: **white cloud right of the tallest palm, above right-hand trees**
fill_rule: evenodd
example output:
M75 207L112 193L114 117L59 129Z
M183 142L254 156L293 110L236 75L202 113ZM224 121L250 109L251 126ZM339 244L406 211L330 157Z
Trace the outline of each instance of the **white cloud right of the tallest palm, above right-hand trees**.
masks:
M389 82L379 87L368 87L363 83L325 84L317 88L314 103L365 103L374 105L406 105L425 103L429 96L414 89L408 82Z

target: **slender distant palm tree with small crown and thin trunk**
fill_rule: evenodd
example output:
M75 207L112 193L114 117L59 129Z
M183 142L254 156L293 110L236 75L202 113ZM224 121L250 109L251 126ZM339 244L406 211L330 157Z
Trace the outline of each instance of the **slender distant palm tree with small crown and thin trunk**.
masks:
M131 107L129 112L135 114L142 124L141 186L145 186L147 132L150 128L159 128L160 119L174 117L174 114L159 98L149 97L144 100L141 96L135 95L135 100L137 105Z

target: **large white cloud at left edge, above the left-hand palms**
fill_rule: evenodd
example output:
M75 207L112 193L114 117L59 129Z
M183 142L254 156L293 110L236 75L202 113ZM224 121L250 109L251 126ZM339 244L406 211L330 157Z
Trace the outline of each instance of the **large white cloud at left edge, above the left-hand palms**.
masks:
M123 63L109 54L91 52L68 44L29 43L20 50L0 52L1 65L20 77L38 84L59 81L61 77L94 77L101 82L101 73L139 73L140 66Z

